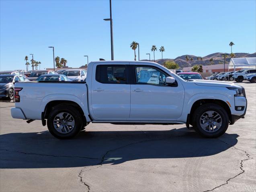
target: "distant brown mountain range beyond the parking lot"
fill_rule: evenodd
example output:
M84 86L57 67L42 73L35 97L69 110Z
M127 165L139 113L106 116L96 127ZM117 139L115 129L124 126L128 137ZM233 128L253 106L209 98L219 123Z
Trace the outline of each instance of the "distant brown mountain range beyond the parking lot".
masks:
M163 63L165 61L175 61L175 63L177 63L180 68L183 67L192 67L193 65L211 65L210 63L210 59L213 59L212 65L216 65L216 64L224 64L224 57L221 55L224 53L212 53L210 55L207 55L205 57L202 57L202 61L201 61L201 57L200 56L195 56L195 55L182 55L180 57L176 57L175 59L163 59ZM228 53L226 53L228 55ZM256 57L256 53L234 53L236 55L236 58L238 57ZM186 56L189 57L189 59L193 58L193 61L186 61ZM199 57L199 60L197 60L197 58ZM226 62L230 61L230 57L226 58ZM141 60L141 61L149 61L147 59L145 60ZM152 61L152 60L151 60ZM154 60L153 60L154 61ZM157 59L156 63L159 63L160 65L162 65L162 59ZM214 63L214 64L213 64Z

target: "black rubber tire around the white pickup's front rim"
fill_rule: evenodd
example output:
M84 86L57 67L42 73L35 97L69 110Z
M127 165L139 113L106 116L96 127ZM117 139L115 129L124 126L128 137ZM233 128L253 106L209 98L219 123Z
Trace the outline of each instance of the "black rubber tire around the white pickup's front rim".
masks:
M219 115L221 116L221 119L222 119L221 126L215 132L207 132L201 127L201 124L200 124L201 116L207 111L215 111L219 113ZM197 133L199 133L201 136L206 138L216 138L223 135L229 125L229 117L225 109L223 109L223 107L216 105L214 103L207 103L207 104L201 105L196 109L193 116L194 116L193 127L195 128Z

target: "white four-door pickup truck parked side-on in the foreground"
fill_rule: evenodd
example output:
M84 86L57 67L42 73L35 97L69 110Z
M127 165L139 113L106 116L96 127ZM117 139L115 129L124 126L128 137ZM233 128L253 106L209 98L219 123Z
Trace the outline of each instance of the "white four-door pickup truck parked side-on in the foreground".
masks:
M144 61L98 61L86 82L15 84L13 118L38 119L59 138L74 137L88 123L185 124L204 137L219 137L244 117L247 100L234 83L185 81Z

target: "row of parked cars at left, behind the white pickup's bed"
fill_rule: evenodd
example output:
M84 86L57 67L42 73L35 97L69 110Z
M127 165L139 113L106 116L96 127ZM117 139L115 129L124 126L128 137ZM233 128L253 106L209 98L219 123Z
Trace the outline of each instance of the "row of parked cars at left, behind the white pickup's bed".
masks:
M85 81L84 69L0 71L0 97L14 99L14 84L25 81Z

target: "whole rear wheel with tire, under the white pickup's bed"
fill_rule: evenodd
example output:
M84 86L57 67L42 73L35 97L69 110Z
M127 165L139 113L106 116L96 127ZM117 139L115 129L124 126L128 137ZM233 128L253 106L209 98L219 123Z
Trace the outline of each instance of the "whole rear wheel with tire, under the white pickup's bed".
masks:
M76 136L83 125L82 115L73 106L57 105L47 118L49 132L58 139Z

